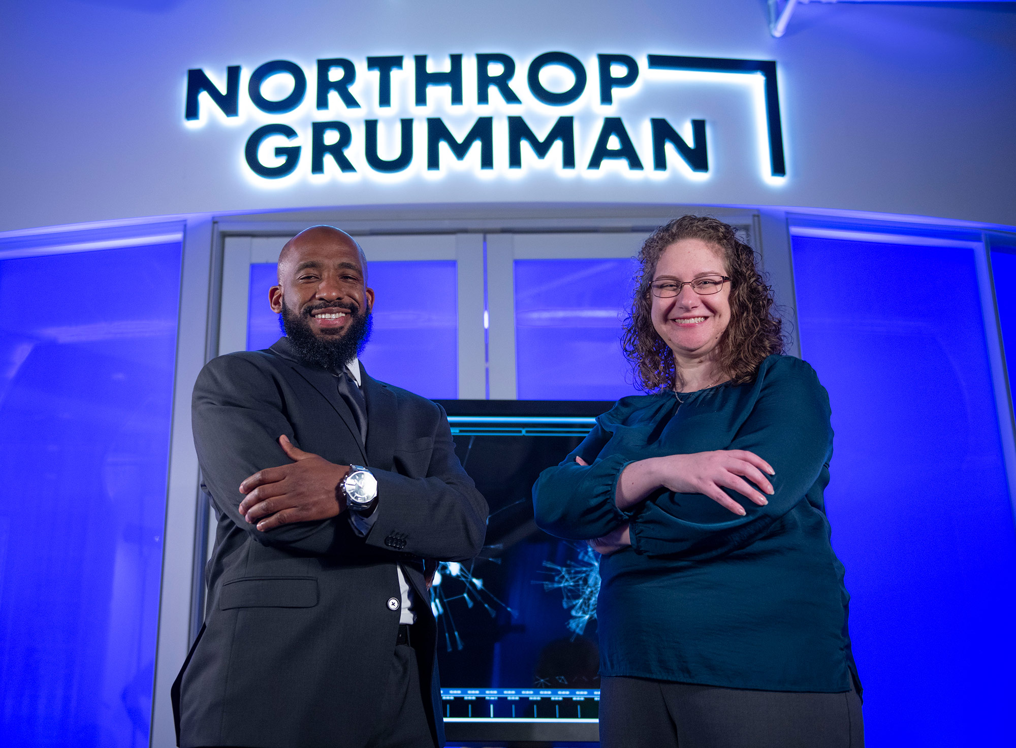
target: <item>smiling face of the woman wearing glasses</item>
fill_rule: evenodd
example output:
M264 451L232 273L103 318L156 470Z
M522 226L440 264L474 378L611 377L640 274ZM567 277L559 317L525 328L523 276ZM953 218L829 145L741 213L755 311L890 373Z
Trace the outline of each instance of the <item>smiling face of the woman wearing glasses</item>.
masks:
M719 249L701 239L681 239L663 250L652 279L681 283L728 274ZM718 294L699 295L685 286L670 299L652 296L651 314L652 326L674 352L678 368L709 358L731 322L731 284L724 283Z

